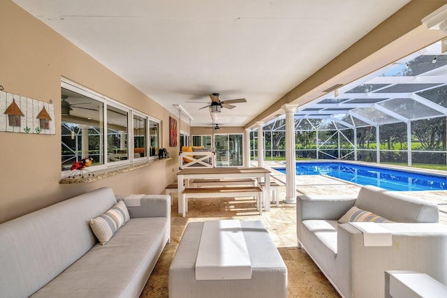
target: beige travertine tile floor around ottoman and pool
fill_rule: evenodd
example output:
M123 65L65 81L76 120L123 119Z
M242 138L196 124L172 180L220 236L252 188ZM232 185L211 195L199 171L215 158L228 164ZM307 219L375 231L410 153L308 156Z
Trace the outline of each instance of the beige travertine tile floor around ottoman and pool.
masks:
M272 179L285 181L284 175L276 171L272 172ZM354 184L323 176L297 177L296 184L297 195L356 195L360 190ZM446 194L447 192L434 192L425 196L428 200L438 202L441 207L443 202L439 200L447 204ZM279 198L286 198L285 186L280 187ZM441 213L441 218L444 215L445 213ZM295 204L286 204L283 201L279 207L272 204L270 211L263 212L260 216L254 200L249 198L197 199L189 202L189 212L182 218L181 214L177 214L177 196L174 196L171 216L170 244L161 254L140 297L168 297L169 266L186 224L191 221L218 219L263 221L288 268L288 297L340 297L309 255L297 247Z

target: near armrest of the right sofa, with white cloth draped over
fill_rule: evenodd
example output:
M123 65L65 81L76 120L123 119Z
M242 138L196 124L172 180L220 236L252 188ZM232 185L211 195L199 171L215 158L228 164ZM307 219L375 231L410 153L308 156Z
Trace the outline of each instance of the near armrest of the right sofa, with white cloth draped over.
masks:
M392 246L364 246L360 230L339 225L335 283L345 297L383 297L387 270L419 271L447 284L447 225L377 224L392 234Z

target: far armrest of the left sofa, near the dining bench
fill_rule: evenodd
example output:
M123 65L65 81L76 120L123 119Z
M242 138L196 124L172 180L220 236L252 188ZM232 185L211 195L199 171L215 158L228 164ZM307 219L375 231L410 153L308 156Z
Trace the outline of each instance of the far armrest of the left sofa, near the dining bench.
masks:
M117 196L117 200L123 200ZM126 200L124 200L126 202ZM145 195L140 199L140 206L127 206L131 218L168 217L170 218L170 195Z

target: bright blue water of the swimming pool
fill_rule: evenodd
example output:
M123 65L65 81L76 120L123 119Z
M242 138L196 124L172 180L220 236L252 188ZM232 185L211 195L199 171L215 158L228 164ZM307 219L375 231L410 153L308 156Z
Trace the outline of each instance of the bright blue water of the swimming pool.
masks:
M275 170L286 172L285 168ZM446 176L352 163L296 163L296 174L325 174L356 184L379 186L390 191L447 190Z

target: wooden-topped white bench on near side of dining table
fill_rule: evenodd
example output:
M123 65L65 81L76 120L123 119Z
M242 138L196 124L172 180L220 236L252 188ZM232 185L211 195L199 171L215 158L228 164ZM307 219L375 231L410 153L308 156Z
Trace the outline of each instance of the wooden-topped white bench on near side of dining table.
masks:
M189 198L233 198L233 197L256 197L259 215L263 214L263 190L259 186L250 187L220 187L220 188L185 188L182 192L183 212L186 216ZM270 203L270 202L269 202Z

